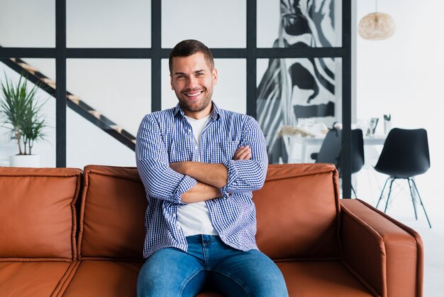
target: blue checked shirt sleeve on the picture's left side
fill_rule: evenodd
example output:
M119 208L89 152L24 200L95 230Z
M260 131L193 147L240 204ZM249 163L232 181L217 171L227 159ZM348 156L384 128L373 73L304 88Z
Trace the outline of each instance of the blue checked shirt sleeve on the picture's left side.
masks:
M159 124L150 114L140 123L135 161L147 195L184 205L182 194L196 185L197 180L170 168Z

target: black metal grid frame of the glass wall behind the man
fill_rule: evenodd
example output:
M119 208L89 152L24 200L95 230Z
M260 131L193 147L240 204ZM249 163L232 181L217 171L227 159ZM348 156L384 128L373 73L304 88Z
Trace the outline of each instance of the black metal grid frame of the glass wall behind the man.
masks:
M161 61L170 48L162 48L162 3L151 0L151 48L67 48L66 1L55 0L55 48L0 48L0 58L55 58L56 166L66 166L66 60L118 58L151 60L151 110L161 109ZM246 0L246 48L211 48L214 58L240 58L247 63L247 114L256 117L256 71L260 58L341 58L343 115L343 198L351 197L351 0L342 1L342 46L335 48L257 48L257 1ZM158 28L158 29L155 29Z

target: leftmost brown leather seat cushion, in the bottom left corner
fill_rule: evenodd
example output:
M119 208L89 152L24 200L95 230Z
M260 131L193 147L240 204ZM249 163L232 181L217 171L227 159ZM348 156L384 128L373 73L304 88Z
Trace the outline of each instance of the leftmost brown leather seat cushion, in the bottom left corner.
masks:
M0 296L52 296L71 268L67 262L0 262Z

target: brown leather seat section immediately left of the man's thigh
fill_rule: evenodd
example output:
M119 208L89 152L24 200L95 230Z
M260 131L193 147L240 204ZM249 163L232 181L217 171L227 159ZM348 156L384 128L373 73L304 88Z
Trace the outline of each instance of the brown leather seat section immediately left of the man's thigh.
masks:
M143 261L84 260L63 297L136 296L136 283Z

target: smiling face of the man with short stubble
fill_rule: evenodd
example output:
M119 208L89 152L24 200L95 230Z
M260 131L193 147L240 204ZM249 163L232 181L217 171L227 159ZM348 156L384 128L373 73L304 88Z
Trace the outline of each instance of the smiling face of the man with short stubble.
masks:
M207 65L203 53L172 58L171 89L188 117L201 119L211 112L217 70Z

